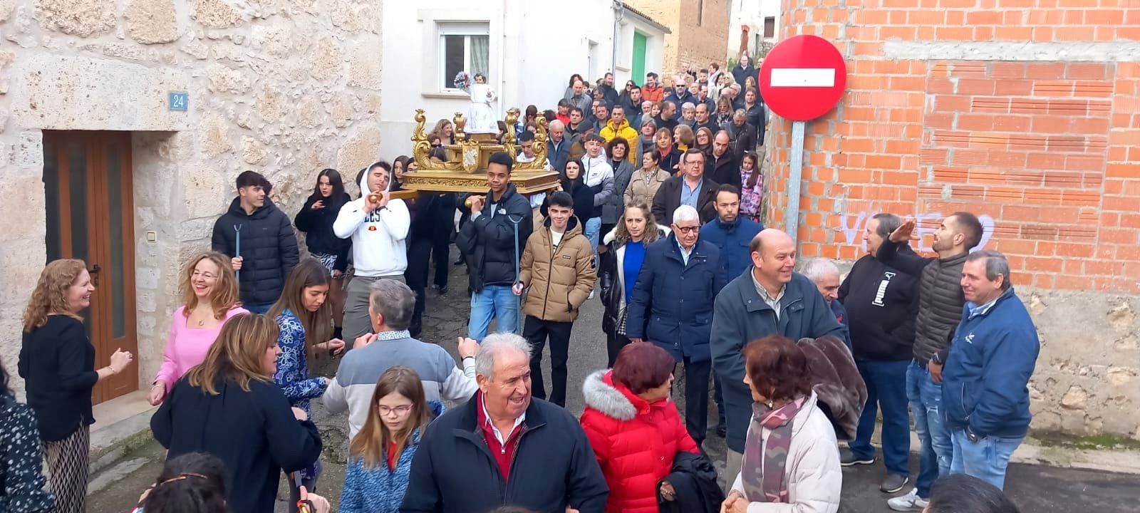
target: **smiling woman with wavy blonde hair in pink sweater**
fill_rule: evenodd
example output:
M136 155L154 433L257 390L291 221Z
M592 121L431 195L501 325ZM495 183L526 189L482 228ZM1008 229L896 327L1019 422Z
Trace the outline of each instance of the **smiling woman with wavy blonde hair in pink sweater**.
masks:
M206 357L227 319L247 311L238 307L237 278L229 258L217 252L190 260L182 272L182 303L170 321L170 336L162 367L150 388L150 404L157 405L190 367Z

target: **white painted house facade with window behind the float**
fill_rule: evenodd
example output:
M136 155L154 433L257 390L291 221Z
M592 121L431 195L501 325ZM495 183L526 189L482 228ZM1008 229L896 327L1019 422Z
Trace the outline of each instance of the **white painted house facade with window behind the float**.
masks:
M539 112L555 108L575 73L593 81L613 65L614 84L620 89L629 79L635 32L646 36L646 71L659 71L663 30L629 11L614 23L617 13L611 0L385 2L381 156L391 160L410 152L416 108L426 111L429 130L439 119L450 120L456 112L466 114L467 95L451 88L455 73L445 71L443 64L445 52L457 50L461 39L466 56L463 71L472 79L472 59L481 60L479 55L486 55L488 83L499 98L492 108L500 119L512 106L523 111L534 104ZM482 44L486 54L480 51Z

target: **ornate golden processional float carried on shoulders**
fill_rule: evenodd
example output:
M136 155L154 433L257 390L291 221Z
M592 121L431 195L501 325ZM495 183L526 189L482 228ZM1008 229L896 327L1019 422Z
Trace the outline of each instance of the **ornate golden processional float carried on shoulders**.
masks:
M487 164L495 152L506 152L512 160L515 160L511 171L511 182L520 194L529 196L554 189L559 185L559 174L547 171L545 166L546 119L538 116L538 125L535 129L535 160L531 162L516 160L519 148L515 145L514 123L518 119L518 108L507 111L504 120L506 135L499 144L494 133L465 135L463 129L466 120L462 113L455 113L453 124L456 142L443 145L448 150L446 162L433 162L427 157L431 152L427 132L424 131L427 120L424 109L417 108L416 129L412 133L414 142L412 155L420 169L404 174L401 182L404 190L393 193L392 197L413 198L418 192L486 194Z

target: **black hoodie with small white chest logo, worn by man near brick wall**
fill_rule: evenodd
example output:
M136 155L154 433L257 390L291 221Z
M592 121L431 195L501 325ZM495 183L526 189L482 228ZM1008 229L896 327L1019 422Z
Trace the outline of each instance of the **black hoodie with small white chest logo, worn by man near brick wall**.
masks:
M914 252L903 244L898 253ZM866 255L855 262L839 286L839 301L847 309L856 360L898 361L914 357L917 277Z

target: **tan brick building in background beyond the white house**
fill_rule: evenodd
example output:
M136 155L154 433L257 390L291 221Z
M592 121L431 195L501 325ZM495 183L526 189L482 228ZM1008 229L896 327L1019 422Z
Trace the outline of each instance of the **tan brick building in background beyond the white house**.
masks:
M714 62L723 67L728 38L728 0L633 0L626 3L673 31L665 34L663 70L646 71L658 71L662 79L668 79L677 72L708 67ZM698 11L701 13L700 24Z

